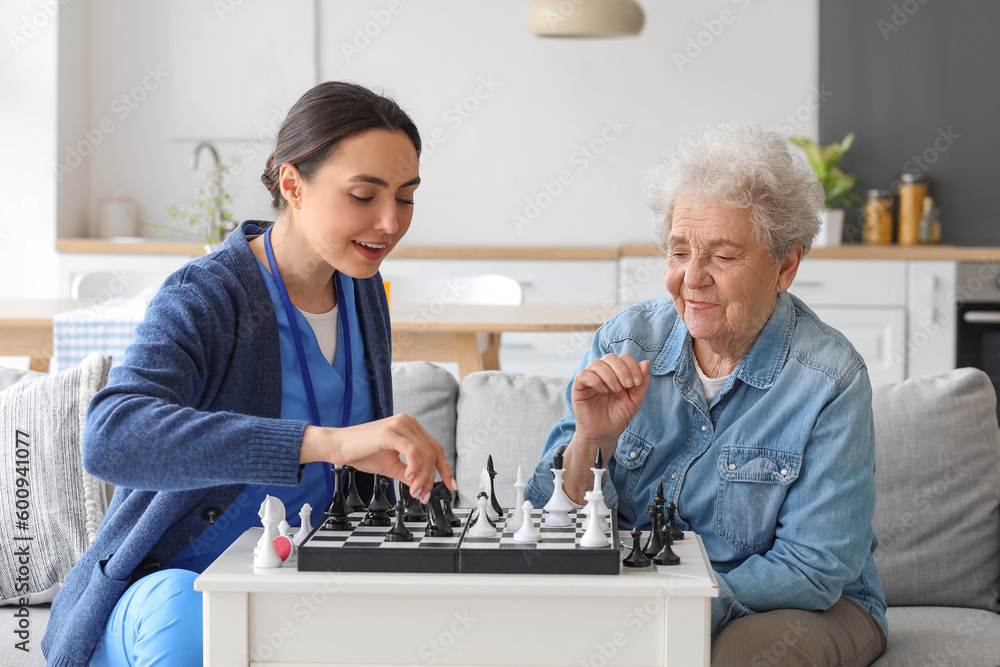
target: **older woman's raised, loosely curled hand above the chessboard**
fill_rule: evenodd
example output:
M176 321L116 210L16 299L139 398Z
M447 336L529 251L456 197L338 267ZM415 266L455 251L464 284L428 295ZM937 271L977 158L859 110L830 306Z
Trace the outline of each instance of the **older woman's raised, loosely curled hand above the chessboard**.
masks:
M618 440L649 388L649 361L608 353L576 374L571 400L576 437L607 445Z

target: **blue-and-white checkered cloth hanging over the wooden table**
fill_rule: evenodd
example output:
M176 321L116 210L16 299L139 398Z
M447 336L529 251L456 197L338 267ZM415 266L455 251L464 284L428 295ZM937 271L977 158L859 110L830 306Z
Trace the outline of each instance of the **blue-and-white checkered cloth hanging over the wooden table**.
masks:
M135 340L135 328L146 316L151 294L112 299L59 313L52 318L50 370L79 366L91 352L111 355L114 365L125 359L125 348Z

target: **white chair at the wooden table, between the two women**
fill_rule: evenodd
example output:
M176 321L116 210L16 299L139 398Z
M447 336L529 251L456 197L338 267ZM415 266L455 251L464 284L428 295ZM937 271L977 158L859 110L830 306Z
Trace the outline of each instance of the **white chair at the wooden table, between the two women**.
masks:
M383 274L382 278L390 283L389 298L394 305L442 303L520 306L524 302L521 283L499 273L452 277L394 277L391 274ZM478 333L476 346L482 358L483 368L499 370L500 334Z

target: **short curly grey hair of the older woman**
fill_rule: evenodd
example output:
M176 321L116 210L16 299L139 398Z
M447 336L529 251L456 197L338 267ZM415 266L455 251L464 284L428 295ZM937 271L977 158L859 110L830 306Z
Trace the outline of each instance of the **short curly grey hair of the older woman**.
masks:
M785 137L757 125L726 123L693 132L646 173L660 247L682 197L747 209L754 239L780 262L796 245L809 252L826 196L815 172Z

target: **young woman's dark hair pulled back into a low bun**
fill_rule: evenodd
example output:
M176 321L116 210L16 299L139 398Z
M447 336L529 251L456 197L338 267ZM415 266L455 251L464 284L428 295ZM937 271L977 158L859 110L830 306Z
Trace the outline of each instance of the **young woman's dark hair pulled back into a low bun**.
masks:
M366 130L402 131L420 156L420 133L398 104L364 86L327 81L308 90L288 110L278 129L274 152L267 158L260 182L271 193L275 213L284 210L278 175L289 163L306 181L333 155L345 139Z

